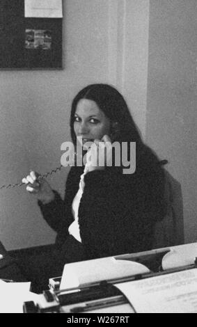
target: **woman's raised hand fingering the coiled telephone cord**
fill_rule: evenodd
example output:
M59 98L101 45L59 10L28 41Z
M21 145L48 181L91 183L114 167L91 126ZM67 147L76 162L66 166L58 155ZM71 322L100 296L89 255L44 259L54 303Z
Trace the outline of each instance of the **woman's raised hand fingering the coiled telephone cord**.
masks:
M54 200L55 195L49 183L43 178L40 178L38 182L38 177L38 173L31 171L30 175L23 178L22 183L27 185L26 191L36 195L38 200L45 205Z

